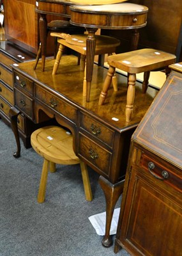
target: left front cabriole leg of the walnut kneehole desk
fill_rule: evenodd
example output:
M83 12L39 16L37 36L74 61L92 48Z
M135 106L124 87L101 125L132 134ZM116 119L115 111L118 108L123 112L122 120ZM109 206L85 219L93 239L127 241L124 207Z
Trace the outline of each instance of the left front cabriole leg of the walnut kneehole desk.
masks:
M19 130L17 125L17 117L20 114L20 111L14 107L10 108L9 116L11 122L11 128L15 135L15 140L17 143L17 152L13 153L13 157L20 157L20 137L19 137Z

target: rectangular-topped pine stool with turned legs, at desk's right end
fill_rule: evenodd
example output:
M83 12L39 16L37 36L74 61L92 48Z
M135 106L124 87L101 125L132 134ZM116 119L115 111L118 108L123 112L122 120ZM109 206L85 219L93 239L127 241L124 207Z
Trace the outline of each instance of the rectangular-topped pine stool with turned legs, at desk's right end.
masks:
M167 52L155 49L141 49L137 51L125 52L108 57L109 70L103 84L102 92L98 104L102 105L107 97L112 77L115 69L119 68L128 72L128 90L126 95L126 122L132 119L133 103L135 99L136 74L144 72L144 83L142 92L146 93L148 88L148 79L150 71L161 70L165 68L165 74L168 75L169 65L175 63L176 56ZM114 86L116 88L116 84Z

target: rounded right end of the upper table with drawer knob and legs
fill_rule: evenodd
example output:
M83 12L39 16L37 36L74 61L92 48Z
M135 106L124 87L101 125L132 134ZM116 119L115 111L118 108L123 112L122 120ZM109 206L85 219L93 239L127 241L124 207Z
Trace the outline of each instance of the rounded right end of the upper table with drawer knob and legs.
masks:
M147 24L148 7L132 3L117 3L72 5L70 6L70 10L70 23L85 27L88 32L86 42L86 100L89 102L96 45L95 33L97 29L133 29L131 50L135 50L139 42L138 29L143 28Z

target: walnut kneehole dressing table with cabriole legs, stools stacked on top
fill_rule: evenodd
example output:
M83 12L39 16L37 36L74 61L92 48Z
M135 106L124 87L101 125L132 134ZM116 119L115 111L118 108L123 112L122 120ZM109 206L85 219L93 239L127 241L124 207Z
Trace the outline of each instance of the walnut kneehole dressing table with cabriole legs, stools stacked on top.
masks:
M136 86L135 115L131 122L126 123L126 83L118 92L109 90L109 101L98 106L107 69L94 65L91 100L87 102L82 96L83 72L77 65L76 56L63 56L61 61L61 73L56 76L52 76L54 60L47 60L45 72L42 72L41 61L36 70L33 70L34 61L12 65L15 104L10 109L10 119L17 141L14 156L20 156L19 113L36 124L56 118L60 125L70 129L75 154L100 174L99 183L105 194L107 212L102 244L109 247L112 244L110 223L116 202L123 192L130 138L155 95L142 94L142 86ZM123 83L123 79L126 77L121 79L119 76L118 84ZM154 91L149 88L149 92Z

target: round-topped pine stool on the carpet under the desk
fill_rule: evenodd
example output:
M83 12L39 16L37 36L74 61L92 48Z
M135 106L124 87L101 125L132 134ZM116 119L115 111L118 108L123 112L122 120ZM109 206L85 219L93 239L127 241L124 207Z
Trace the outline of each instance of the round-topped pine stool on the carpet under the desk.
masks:
M45 200L47 175L49 170L50 172L56 171L56 164L80 164L86 200L93 199L87 166L73 152L73 136L70 132L57 126L42 127L31 134L31 145L44 158L38 203Z

